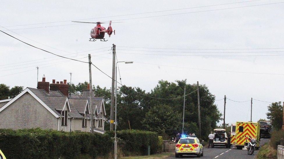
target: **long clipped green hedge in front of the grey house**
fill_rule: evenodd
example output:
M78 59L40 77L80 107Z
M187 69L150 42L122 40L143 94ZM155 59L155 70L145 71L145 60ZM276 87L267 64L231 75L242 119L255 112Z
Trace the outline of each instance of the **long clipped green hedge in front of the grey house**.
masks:
M6 158L79 158L106 156L113 150L107 134L42 129L0 129L0 149Z

